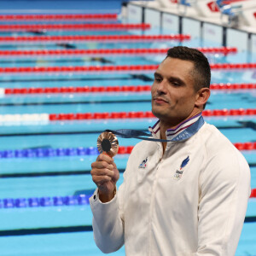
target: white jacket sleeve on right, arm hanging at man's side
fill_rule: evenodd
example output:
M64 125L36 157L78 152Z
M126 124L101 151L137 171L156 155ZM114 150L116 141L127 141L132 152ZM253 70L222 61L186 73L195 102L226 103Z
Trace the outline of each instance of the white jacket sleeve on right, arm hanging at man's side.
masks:
M236 253L251 192L250 169L241 153L230 149L212 156L201 175L195 256Z

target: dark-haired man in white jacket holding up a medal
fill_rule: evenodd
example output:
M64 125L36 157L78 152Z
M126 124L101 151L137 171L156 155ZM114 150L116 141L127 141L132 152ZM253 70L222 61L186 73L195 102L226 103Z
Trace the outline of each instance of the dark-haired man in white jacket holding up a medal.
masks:
M235 255L250 195L241 153L201 117L211 71L196 49L174 47L154 73L153 137L138 143L116 192L114 160L91 164L90 198L96 245L127 256Z

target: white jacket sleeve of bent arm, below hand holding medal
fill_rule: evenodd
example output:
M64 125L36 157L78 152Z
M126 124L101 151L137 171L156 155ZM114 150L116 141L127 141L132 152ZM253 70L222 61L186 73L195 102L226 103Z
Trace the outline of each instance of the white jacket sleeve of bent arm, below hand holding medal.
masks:
M124 245L124 216L120 203L122 186L108 203L99 200L98 189L90 197L94 239L102 253L113 253Z

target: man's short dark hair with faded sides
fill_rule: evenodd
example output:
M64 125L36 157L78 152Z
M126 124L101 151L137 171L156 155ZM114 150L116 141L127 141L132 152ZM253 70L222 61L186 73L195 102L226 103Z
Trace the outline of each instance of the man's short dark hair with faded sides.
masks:
M194 63L194 70L191 75L194 79L195 91L204 87L210 88L211 67L207 57L203 55L200 50L186 46L176 46L168 49L166 58L167 57Z

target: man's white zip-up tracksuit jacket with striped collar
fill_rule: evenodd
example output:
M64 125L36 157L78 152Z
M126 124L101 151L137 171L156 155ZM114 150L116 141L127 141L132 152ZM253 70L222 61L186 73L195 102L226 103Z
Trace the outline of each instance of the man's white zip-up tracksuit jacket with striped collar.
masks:
M199 124L201 123L201 125ZM159 122L149 128L160 138ZM133 149L113 200L90 198L96 245L127 256L233 256L250 195L250 170L213 125L196 116L161 143Z

